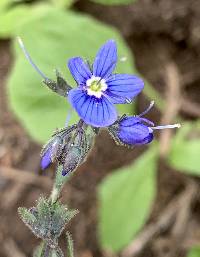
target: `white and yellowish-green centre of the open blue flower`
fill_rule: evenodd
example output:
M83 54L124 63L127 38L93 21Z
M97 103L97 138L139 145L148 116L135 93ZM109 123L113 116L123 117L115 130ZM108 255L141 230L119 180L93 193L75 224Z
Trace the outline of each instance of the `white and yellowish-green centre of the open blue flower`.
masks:
M86 90L88 95L101 98L103 92L108 88L105 79L92 76L86 81Z

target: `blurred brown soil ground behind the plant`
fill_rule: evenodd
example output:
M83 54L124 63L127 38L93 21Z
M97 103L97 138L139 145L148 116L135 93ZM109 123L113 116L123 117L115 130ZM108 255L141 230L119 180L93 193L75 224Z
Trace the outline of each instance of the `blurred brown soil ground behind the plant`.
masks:
M89 13L121 32L135 55L140 73L164 99L169 100L169 104L170 100L172 104L179 102L179 108L172 114L173 119L177 114L185 120L200 117L199 0L139 0L134 5L120 7L77 1L73 8ZM17 207L32 206L41 193L48 195L53 172L41 174L41 146L31 141L9 110L5 88L12 64L9 46L8 40L0 41L0 257L23 257L32 256L32 250L39 241L20 221ZM167 96L165 76L169 63L178 71L180 99L173 94L171 99ZM139 97L138 111L147 103L144 95ZM154 121L165 120L165 113L155 109L149 117ZM63 202L80 210L68 227L75 242L76 256L114 256L103 252L98 244L95 192L105 175L130 163L144 150L145 147L128 150L116 146L103 131L87 162L65 187ZM200 244L200 181L172 170L164 158L160 160L157 181L157 198L144 233L148 233L148 224L156 227L157 221L166 214L166 206L171 204L175 208L175 216L170 224L168 221L159 227L139 253L131 256L185 256L189 248ZM178 206L173 205L177 195L180 196ZM183 196L185 200L181 201ZM64 239L61 243L64 245ZM120 255L127 257L125 253Z

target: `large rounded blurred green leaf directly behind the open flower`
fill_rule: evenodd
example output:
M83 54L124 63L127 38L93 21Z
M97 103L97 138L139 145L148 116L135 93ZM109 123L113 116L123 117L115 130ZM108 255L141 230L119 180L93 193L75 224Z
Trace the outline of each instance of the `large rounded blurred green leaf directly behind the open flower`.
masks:
M66 61L73 56L83 56L92 61L98 48L108 39L117 41L119 56L131 56L119 33L86 15L71 11L46 8L41 15L23 24L15 32L24 40L26 48L40 69L54 78L53 69L65 74L67 82L75 86ZM25 59L21 49L14 45L16 61L8 80L11 108L29 134L44 143L56 127L63 127L70 109L67 99L59 97L41 83L40 76ZM119 63L117 71L133 73L131 58ZM71 116L71 123L77 115Z

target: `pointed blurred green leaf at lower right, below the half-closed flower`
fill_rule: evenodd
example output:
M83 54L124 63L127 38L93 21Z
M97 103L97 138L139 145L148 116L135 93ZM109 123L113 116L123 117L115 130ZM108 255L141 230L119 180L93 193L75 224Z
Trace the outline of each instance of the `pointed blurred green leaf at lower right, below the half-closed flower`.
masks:
M119 251L145 224L156 190L157 150L108 176L99 188L99 231L103 248Z

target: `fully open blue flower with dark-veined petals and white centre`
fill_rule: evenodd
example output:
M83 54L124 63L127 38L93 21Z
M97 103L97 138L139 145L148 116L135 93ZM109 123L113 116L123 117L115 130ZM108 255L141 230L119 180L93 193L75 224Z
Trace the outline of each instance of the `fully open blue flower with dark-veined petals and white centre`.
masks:
M68 100L85 123L106 127L117 120L114 104L130 102L138 95L144 82L137 76L112 74L117 63L114 40L107 41L98 51L92 70L81 57L71 58L69 70L77 88L69 91Z

